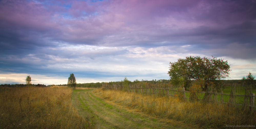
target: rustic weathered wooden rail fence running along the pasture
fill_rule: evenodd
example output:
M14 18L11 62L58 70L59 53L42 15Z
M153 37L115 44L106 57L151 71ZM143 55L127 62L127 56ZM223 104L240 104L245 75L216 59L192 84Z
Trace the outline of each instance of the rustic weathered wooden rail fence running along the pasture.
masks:
M242 83L240 86L243 86L245 88L245 94L239 95L235 92L235 87L237 87L239 84L233 83L230 84L231 91L230 94L223 94L223 89L221 88L220 93L217 93L217 90L212 88L208 88L207 92L202 91L185 91L185 88L182 86L173 86L171 84L149 84L149 83L138 83L134 85L122 85L122 84L113 84L109 85L107 83L102 84L103 89L114 89L114 90L125 90L128 92L137 92L137 93L146 93L146 94L159 94L159 95L169 95L169 96L175 96L180 97L181 99L187 101L188 99L190 101L203 101L203 102L217 102L217 103L226 103L229 104L231 107L234 105L242 105L242 109L246 109L247 107L250 108L251 111L256 108L254 106L254 98L255 93L252 93L251 87L253 87L255 84L248 84L248 83ZM186 97L185 93L189 93L189 95L195 95L196 96L190 96ZM201 99L199 97L199 93L204 94L203 98ZM220 96L220 100L218 100L218 95ZM223 95L229 96L228 102L223 102ZM187 95L188 96L188 95ZM243 104L239 104L237 99L235 100L235 96L244 96ZM249 99L249 104L248 104Z

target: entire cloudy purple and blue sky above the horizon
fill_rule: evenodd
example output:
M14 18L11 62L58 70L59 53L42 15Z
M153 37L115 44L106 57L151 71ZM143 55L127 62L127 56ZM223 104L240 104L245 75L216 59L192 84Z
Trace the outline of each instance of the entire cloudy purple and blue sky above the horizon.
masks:
M0 0L0 84L169 79L186 56L256 75L255 0Z

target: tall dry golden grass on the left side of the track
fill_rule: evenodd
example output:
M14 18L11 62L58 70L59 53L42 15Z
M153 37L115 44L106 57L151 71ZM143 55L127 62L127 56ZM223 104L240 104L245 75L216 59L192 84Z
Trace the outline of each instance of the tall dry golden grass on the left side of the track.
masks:
M0 87L0 128L92 128L71 102L72 88Z

